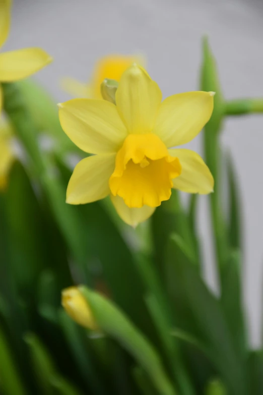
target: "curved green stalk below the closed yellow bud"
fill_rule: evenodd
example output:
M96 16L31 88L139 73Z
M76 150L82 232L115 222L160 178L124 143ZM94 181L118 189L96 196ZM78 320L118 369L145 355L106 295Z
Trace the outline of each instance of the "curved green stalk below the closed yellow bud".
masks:
M139 329L112 302L85 287L79 289L99 328L133 355L162 395L175 395L158 353Z

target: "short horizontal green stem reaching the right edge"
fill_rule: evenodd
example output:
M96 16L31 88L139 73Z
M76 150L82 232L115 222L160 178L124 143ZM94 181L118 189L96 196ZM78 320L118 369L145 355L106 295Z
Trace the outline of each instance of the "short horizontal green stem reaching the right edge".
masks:
M263 112L263 99L234 99L226 101L225 115L240 116Z

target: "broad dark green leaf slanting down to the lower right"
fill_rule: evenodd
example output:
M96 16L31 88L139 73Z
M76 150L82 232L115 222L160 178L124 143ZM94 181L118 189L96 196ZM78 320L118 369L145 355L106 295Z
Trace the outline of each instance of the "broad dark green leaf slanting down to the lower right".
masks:
M180 248L177 240L178 237L172 237L167 257L167 285L173 300L175 325L205 346L231 394L245 394L243 366L232 344L220 302L209 292L183 250L184 259L174 259Z

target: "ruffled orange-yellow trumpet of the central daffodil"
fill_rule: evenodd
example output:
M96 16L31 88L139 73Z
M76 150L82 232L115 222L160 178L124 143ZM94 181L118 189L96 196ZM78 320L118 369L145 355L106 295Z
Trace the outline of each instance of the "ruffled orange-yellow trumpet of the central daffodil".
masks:
M170 198L172 179L180 174L179 159L169 155L158 136L129 134L116 155L109 187L130 208L157 207Z

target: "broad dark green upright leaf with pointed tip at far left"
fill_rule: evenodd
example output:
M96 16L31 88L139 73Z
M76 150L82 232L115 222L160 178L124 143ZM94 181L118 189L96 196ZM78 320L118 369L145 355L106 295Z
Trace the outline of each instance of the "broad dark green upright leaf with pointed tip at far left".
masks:
M46 246L43 229L39 227L42 222L40 207L19 162L14 163L10 172L6 218L12 274L20 291L32 292L32 285L47 260Z

